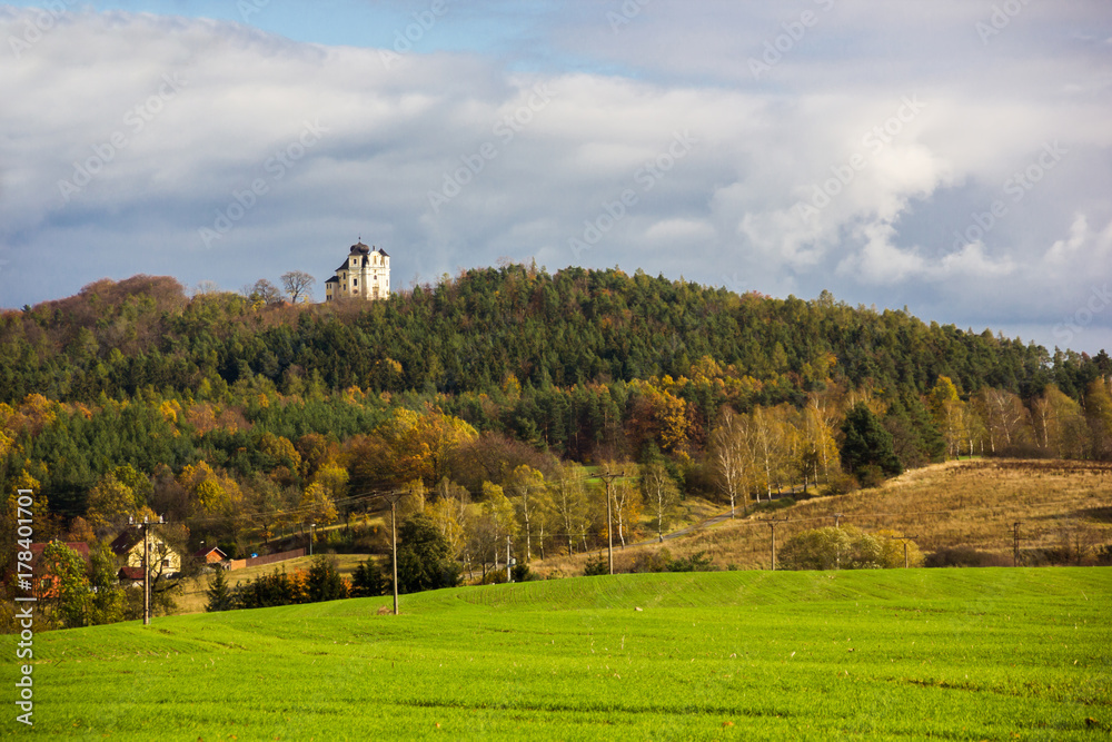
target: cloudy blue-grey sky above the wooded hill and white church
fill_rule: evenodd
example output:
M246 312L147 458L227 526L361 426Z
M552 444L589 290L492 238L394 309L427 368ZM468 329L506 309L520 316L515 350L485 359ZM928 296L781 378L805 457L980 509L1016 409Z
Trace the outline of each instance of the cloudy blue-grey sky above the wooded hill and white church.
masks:
M1108 0L0 3L0 307L643 269L1112 348ZM210 284L206 284L210 281Z

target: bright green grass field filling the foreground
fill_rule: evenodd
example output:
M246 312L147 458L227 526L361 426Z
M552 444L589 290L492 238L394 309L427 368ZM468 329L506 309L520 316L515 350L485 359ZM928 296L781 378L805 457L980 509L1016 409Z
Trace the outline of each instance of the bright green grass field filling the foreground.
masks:
M31 734L1096 740L1112 729L1110 568L636 574L403 596L403 615L377 615L387 603L38 635ZM21 725L8 708L11 734Z

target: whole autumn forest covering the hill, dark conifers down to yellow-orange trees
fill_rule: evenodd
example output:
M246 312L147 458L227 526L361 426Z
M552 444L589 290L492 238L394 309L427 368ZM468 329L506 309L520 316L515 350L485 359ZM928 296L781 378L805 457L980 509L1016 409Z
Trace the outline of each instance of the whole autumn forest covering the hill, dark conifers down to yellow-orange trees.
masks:
M1110 379L1103 352L639 271L508 265L322 305L136 276L0 315L0 476L48 508L39 535L157 513L229 552L405 486L485 565L509 533L530 554L594 543L583 465L627 475L632 535L686 494L1109 458Z

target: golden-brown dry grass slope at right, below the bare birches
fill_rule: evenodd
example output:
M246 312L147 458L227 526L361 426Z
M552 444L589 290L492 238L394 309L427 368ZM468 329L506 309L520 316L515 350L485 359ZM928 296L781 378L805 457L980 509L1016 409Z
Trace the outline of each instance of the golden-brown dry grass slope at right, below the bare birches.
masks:
M776 542L783 544L793 533L834 525L837 513L843 526L915 536L924 553L970 546L1009 560L1013 525L1019 523L1020 548L1029 563L1036 558L1035 551L1045 550L1065 550L1072 560L1092 563L1102 545L1112 544L1112 465L1012 459L935 464L881 487L814 497L661 545L616 550L614 566L629 571L645 550L664 547L673 557L705 552L719 568L767 568L771 530L762 520L787 518L776 524ZM534 568L542 574L583 574L587 558L597 555L550 558Z

